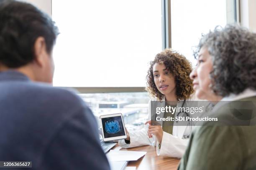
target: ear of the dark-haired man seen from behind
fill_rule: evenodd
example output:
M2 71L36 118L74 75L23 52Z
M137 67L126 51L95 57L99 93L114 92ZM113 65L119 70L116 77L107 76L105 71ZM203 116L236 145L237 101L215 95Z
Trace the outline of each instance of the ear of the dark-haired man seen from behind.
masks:
M44 66L44 58L46 57L46 43L44 37L38 37L34 44L34 62L39 66Z

